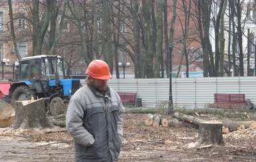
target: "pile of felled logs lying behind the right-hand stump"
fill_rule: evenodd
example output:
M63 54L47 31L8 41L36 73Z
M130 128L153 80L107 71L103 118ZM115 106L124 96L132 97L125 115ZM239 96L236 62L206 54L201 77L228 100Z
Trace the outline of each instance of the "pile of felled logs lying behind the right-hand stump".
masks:
M249 120L249 121L217 120L217 121L222 123L222 126L223 126L222 132L223 133L256 127L255 120ZM199 126L199 123L201 123L201 122L216 122L216 121L205 120L205 119L197 118L195 116L183 114L180 112L175 112L174 118L169 119L169 120L166 118L162 118L160 114L148 114L145 118L145 124L147 126L154 126L154 127L190 125L190 126L197 128Z

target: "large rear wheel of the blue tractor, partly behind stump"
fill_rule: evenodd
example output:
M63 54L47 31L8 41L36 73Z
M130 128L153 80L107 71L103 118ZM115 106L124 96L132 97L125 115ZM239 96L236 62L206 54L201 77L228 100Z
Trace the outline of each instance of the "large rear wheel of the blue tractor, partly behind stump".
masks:
M29 87L27 87L26 85L21 85L19 87L17 87L17 89L15 89L15 91L13 91L13 95L11 97L11 104L15 104L15 101L27 101L27 100L31 100L31 96L33 96L33 94L31 94L29 92ZM35 99L35 96L33 96Z

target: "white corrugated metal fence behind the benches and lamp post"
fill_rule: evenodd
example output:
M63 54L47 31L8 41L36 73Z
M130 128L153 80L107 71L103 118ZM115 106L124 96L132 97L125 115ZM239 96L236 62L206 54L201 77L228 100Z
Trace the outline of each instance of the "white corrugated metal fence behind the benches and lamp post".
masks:
M109 79L108 85L117 92L136 92L142 106L154 107L169 100L169 78ZM202 108L213 102L213 93L245 94L256 104L255 77L172 78L172 97L175 106Z

